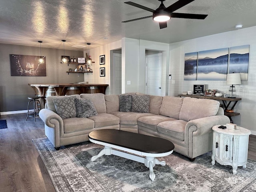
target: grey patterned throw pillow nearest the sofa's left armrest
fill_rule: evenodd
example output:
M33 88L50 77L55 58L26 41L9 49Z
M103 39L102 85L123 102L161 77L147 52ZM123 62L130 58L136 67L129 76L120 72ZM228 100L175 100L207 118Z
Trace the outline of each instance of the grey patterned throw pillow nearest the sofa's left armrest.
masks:
M76 96L52 99L56 112L62 119L76 117L75 98Z

